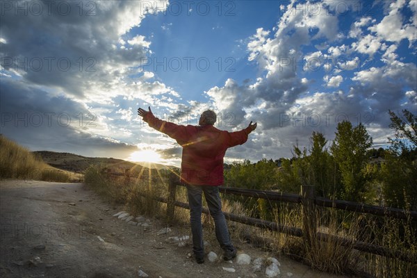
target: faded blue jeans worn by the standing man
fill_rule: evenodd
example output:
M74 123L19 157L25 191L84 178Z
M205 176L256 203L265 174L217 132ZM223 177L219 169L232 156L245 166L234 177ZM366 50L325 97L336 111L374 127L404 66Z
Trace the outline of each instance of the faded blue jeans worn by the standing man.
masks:
M202 227L202 193L208 205L210 215L215 224L215 236L222 250L234 250L231 244L226 218L222 212L218 186L192 186L187 185L188 203L190 204L190 224L193 235L193 252L195 256L204 256L203 227Z

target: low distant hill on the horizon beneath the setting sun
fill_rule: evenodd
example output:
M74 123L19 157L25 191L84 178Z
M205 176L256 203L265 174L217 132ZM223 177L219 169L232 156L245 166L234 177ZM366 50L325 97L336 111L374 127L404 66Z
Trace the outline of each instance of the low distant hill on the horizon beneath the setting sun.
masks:
M33 152L36 156L40 156L45 163L56 167L58 169L67 170L71 172L82 173L91 165L97 165L101 167L111 168L116 172L124 172L125 170L134 169L140 171L142 167L165 169L167 167L156 163L133 163L130 161L124 161L117 158L102 158L102 157L87 157L79 156L77 154L70 154L67 152L49 152L49 151L38 151Z

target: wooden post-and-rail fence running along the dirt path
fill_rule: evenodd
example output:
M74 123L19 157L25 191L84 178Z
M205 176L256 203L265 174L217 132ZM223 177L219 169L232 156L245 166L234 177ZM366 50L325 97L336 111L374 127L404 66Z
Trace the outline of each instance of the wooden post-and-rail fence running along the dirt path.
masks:
M168 222L171 222L174 219L175 206L189 209L188 204L177 201L177 186L185 185L179 182L177 174L170 173L168 178L168 197L156 197L156 200L158 200L159 202L164 202L167 204L166 217ZM219 190L220 193L227 195L254 197L266 199L270 202L287 202L302 205L302 229L297 227L287 227L276 222L261 220L259 218L248 218L243 215L224 213L224 216L227 220L240 222L262 229L268 229L270 231L277 231L279 233L284 233L291 236L302 237L304 238L307 246L316 245L317 240L332 241L337 242L343 246L353 247L355 250L363 252L369 252L372 254L378 254L389 258L400 259L402 261L417 262L416 254L410 254L399 250L390 250L388 247L373 245L370 243L364 243L357 240L350 240L340 236L334 236L318 232L316 222L316 208L318 208L318 206L338 208L345 211L354 211L356 213L368 213L383 217L410 219L411 221L417 221L417 211L404 211L398 208L371 206L368 204L360 204L356 202L347 202L341 200L316 197L314 195L314 187L308 185L301 186L300 195L288 193L275 193L266 190L229 188L223 186L220 186ZM203 208L203 213L208 214L208 209Z

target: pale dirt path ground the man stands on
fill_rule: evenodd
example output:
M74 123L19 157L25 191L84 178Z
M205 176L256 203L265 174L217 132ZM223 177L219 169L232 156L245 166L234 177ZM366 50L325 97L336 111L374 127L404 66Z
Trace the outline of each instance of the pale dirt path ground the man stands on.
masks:
M184 227L164 227L151 220L143 231L112 215L111 206L81 183L0 181L0 277L266 277L252 265L217 261L197 264L191 246L168 243L170 236L189 235ZM238 253L256 259L269 254L234 240ZM311 270L284 256L279 277L346 278ZM235 268L230 273L222 269ZM291 272L291 273L288 273ZM292 276L291 276L292 274Z

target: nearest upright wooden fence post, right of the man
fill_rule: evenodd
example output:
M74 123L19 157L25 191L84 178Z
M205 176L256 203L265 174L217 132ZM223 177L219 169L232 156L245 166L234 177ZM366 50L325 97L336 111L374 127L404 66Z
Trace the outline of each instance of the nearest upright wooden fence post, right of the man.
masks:
M317 241L317 223L316 223L316 206L314 204L314 186L301 186L301 204L302 218L306 252L310 252L311 248L316 246Z

